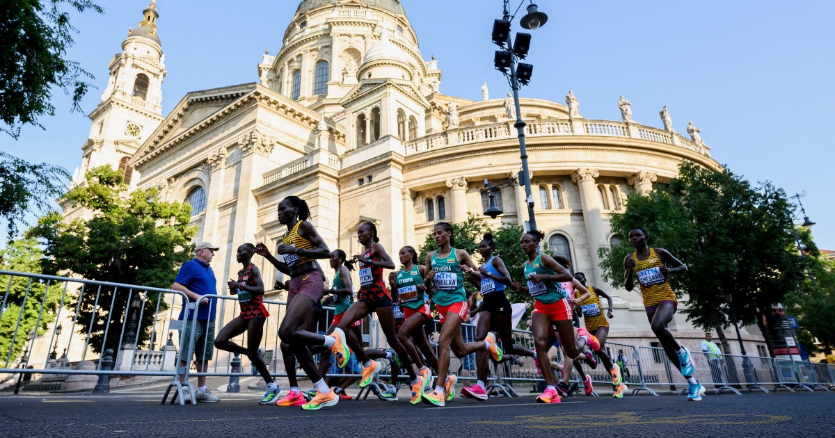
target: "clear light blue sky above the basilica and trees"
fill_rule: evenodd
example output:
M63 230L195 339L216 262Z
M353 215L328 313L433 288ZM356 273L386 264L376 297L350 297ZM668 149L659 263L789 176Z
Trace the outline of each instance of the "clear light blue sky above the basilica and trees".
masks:
M85 113L99 103L107 64L148 1L99 3L104 14L72 18L80 33L68 57L93 73L99 86L84 98ZM502 12L499 0L402 3L423 57L434 53L443 68L443 93L478 100L485 81L493 97L507 91L493 70L489 37ZM190 91L255 82L261 54L281 48L297 5L158 0L169 72L164 112ZM534 77L523 97L564 103L573 89L586 118L618 120L617 99L625 94L633 118L658 127L658 112L668 105L676 130L686 132L693 120L713 157L737 174L770 180L792 194L807 191L802 201L817 222L817 243L835 249L835 201L827 184L835 159L835 2L539 0L539 8L549 22L533 33ZM25 128L18 141L0 134L0 150L72 172L89 119L69 113L63 94L53 102L57 114L41 120L46 130Z

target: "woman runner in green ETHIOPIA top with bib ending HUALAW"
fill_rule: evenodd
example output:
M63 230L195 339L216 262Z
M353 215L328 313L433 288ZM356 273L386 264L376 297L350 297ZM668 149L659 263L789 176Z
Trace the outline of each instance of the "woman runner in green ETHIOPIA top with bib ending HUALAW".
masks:
M438 339L438 381L435 390L423 394L423 402L428 405L443 406L455 396L455 375L447 375L449 369L449 350L452 348L456 357L463 358L478 350L489 350L493 360L502 360L502 350L498 347L495 336L488 333L485 340L464 343L461 335L463 317L468 314L467 293L464 291L464 274L473 279L480 279L478 267L470 259L467 251L455 249L453 226L446 222L435 224L433 229L435 245L438 249L427 254L426 266L431 269L426 274L424 284L434 284L435 305L438 306L443 328Z

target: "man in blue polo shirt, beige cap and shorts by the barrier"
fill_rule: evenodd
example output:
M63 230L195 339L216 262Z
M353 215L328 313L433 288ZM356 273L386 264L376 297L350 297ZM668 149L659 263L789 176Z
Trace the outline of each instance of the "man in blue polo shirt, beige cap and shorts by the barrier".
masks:
M174 279L174 285L171 289L183 292L189 297L189 302L194 303L200 300L203 295L217 294L217 279L215 279L215 272L211 270L209 264L211 259L215 257L215 251L219 248L208 242L201 242L195 247L195 258L185 262ZM209 365L209 360L215 348L215 310L217 308L217 300L209 300L204 298L200 300L200 305L197 308L197 315L194 310L189 312L188 319L185 319L185 348L191 340L191 330L195 331L195 366L197 372L205 373ZM184 320L185 305L180 310L180 320ZM188 358L191 360L191 358ZM187 362L180 362L180 366L186 366ZM180 375L180 383L185 383L185 375ZM190 400L188 386L183 388L183 395L185 400ZM195 390L195 400L204 401L208 403L217 403L220 398L213 395L208 387L206 387L205 376L197 377L197 390Z

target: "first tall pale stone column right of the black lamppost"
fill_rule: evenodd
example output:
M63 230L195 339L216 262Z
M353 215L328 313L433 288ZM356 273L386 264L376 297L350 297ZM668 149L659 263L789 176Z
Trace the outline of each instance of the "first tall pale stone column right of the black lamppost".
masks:
M603 281L603 269L600 268L600 257L597 255L597 249L607 244L606 234L609 232L603 223L603 216L600 214L603 206L600 205L600 195L597 192L597 184L595 184L595 178L599 176L600 172L597 169L577 169L571 173L571 180L579 186L585 235L589 246L591 264L593 265L591 267L593 279L590 282L593 286L606 284Z

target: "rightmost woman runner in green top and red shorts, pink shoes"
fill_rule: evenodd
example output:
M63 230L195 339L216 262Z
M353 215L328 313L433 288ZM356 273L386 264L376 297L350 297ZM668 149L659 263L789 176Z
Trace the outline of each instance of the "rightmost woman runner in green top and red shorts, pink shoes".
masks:
M536 397L539 403L559 403L554 374L547 372L551 369L548 357L549 331L551 325L556 328L560 345L566 357L576 359L579 355L574 338L571 304L568 299L569 291L563 289L561 282L571 282L568 269L565 269L548 254L539 251L539 242L545 234L539 230L529 231L522 235L520 244L522 251L528 256L524 264L524 276L528 280L527 286L514 282L517 292L525 291L534 297L534 312L531 315L531 330L534 332L534 345L539 358L539 366L544 371L545 391ZM566 367L564 373L570 373Z

